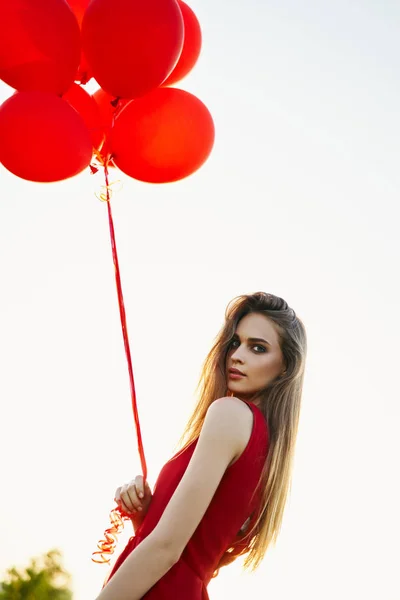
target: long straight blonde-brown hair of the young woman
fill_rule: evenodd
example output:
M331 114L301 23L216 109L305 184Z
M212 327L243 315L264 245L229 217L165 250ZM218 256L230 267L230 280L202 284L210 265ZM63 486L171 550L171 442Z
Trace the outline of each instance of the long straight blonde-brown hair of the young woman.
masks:
M228 395L226 357L239 321L254 312L273 321L279 335L285 372L251 398L253 402L259 399L259 407L269 430L268 455L258 484L261 486L261 509L253 527L246 533L244 543L241 538L240 544L233 542L227 548L213 577L218 575L222 566L247 553L243 568L252 572L258 568L270 544L277 541L291 488L307 337L304 325L294 310L289 308L285 300L273 294L256 292L242 295L228 304L225 323L203 363L196 387L197 404L177 447L178 451L183 451L198 438L210 404L217 398Z

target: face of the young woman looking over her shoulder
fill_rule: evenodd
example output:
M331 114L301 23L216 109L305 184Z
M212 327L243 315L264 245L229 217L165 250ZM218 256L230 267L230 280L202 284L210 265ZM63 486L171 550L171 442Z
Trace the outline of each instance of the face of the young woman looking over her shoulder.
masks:
M244 377L234 378L229 369L238 369ZM259 313L243 317L226 358L228 390L239 398L250 398L283 370L283 355L272 321Z

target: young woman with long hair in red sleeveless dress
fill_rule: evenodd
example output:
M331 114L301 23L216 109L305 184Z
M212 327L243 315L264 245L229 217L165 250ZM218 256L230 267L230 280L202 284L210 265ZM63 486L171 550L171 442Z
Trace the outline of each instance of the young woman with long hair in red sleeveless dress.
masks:
M207 600L220 567L245 554L245 568L259 566L290 488L306 353L304 325L282 298L228 305L180 451L153 494L141 476L116 491L135 535L97 600Z

